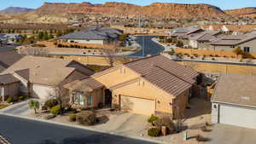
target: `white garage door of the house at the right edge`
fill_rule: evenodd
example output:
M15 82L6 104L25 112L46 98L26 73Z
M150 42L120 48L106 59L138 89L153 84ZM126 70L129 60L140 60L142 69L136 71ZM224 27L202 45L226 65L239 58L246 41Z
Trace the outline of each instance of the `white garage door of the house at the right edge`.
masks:
M219 123L256 129L256 109L245 107L219 107Z

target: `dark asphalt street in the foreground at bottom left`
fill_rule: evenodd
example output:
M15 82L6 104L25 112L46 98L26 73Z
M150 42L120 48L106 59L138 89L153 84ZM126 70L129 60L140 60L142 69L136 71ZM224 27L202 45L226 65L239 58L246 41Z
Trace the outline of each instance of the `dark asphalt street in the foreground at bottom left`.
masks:
M0 135L12 144L153 144L118 135L0 115Z

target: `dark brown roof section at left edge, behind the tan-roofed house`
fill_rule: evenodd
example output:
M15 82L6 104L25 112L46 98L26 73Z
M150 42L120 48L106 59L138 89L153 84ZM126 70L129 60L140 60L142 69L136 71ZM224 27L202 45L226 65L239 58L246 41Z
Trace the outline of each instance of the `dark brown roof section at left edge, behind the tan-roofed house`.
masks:
M23 55L20 55L15 51L0 51L0 72L3 72L9 66L12 66L22 57Z

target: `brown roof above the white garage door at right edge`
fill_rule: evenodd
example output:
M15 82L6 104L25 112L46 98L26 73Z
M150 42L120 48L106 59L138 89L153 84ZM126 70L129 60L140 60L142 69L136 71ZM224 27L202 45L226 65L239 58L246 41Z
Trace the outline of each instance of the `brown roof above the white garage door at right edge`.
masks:
M222 74L212 95L212 101L256 107L256 76Z

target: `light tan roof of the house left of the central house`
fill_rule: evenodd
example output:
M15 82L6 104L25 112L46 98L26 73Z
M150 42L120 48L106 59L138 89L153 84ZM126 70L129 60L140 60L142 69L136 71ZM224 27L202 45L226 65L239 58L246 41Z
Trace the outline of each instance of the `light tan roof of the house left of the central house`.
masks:
M15 72L33 84L55 86L66 79L76 67L69 67L73 60L63 60L38 56L25 56L1 74ZM85 75L85 73L84 73Z

